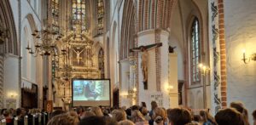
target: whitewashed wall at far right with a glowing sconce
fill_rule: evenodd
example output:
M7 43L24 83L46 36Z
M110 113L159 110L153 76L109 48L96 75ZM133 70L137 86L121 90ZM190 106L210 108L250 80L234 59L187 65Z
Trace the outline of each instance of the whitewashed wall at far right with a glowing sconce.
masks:
M256 1L224 1L224 23L227 57L228 105L232 101L242 101L249 111L256 109L256 62L245 65L242 49L247 57L256 53Z

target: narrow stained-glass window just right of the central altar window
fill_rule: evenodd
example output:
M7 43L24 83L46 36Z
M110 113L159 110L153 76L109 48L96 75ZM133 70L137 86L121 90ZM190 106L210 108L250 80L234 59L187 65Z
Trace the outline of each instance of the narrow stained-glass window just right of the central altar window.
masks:
M97 33L102 34L103 32L103 17L104 17L104 6L102 0L97 0L97 17L98 17L98 24L97 24Z

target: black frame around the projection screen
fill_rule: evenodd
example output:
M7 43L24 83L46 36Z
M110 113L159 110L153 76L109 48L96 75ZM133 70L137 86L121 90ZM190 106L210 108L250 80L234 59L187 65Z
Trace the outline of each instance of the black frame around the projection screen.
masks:
M76 107L76 106L73 106L73 81L75 80L108 80L109 81L109 105L102 105L102 106L111 106L111 92L112 92L112 89L111 89L111 81L110 81L110 78L96 78L96 79L93 79L93 78L72 78L71 79L71 82L72 82L72 99L71 99L71 106L72 107ZM83 106L83 105L82 105Z

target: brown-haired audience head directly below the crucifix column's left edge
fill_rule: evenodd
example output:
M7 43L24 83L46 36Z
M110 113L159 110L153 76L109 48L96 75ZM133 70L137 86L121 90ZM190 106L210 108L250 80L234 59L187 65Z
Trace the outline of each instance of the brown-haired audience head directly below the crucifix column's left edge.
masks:
M131 117L132 122L134 122L136 125L148 125L148 121L145 120L143 114L138 110L132 111Z

